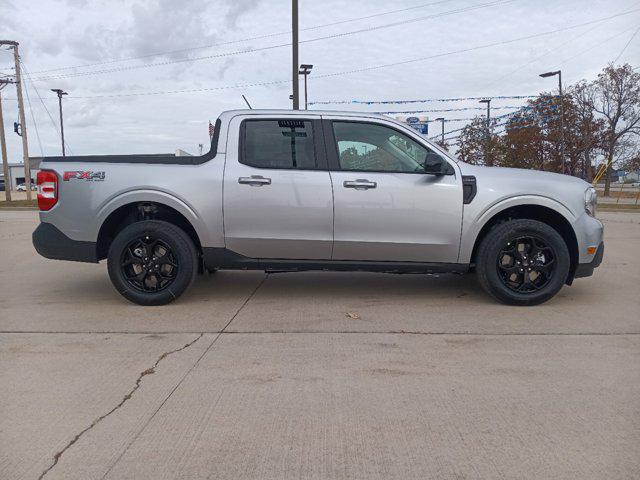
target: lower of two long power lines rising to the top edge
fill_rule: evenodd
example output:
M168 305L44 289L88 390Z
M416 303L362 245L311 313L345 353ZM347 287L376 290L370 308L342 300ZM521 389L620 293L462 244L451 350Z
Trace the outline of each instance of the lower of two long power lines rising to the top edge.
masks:
M372 26L372 27L366 27L366 28L361 28L358 30L351 30L348 32L342 32L342 33L337 33L337 34L332 34L332 35L325 35L323 37L316 37L316 38L310 38L307 40L300 40L298 43L303 44L303 43L312 43L312 42L318 42L321 40L328 40L328 39L332 39L332 38L341 38L341 37L346 37L346 36L351 36L351 35L356 35L358 33L365 33L365 32L372 32L375 30L381 30L381 29L385 29L385 28L391 28L391 27L397 27L400 25L406 25L409 23L415 23L415 22L421 22L424 20L430 20L433 18L440 18L440 17L444 17L444 16L448 16L448 15L454 15L457 13L466 13L468 11L472 11L472 10L478 10L480 8L486 8L486 7L492 7L492 6L496 6L496 5L503 5L506 3L512 3L518 0L495 0L492 2L488 2L488 3L482 3L479 5L472 5L470 7L464 7L464 8L459 8L456 10L449 10L446 12L441 12L441 13L437 13L437 14L433 14L433 15L427 15L427 16L423 16L423 17L416 17L416 18L412 18L412 19L408 19L408 20L402 20L402 21L398 21L398 22L393 22L393 23L388 23L388 24L384 24L384 25L376 25L376 26ZM129 66L122 66L122 67L114 67L114 68L106 68L106 69L102 69L102 70L90 70L90 71L86 71L86 72L76 72L76 73L68 73L68 74L61 74L61 75L49 75L49 76L43 76L43 77L37 77L34 79L34 81L43 81L43 80L58 80L58 79L63 79L63 78L74 78L74 77L84 77L84 76L89 76L89 75L100 75L100 74L104 74L104 73L115 73L115 72L122 72L122 71L130 71L130 70L138 70L141 68L152 68L152 67L159 67L159 66L165 66L165 65L174 65L177 63L187 63L187 62L196 62L196 61L200 61L200 60L211 60L214 58L222 58L222 57L228 57L228 56L235 56L235 55L242 55L242 54L246 54L246 53L254 53L254 52L262 52L265 50L273 50L275 48L283 48L283 47L288 47L291 46L291 42L286 42L286 43L280 43L280 44L276 44L276 45L269 45L266 47L258 47L258 48L246 48L243 50L236 50L233 52L224 52L224 53L216 53L213 55L205 55L205 56L201 56L201 57L192 57L192 58L180 58L180 59L176 59L176 60L165 60L162 62L153 62L153 63L145 63L142 65L129 65Z

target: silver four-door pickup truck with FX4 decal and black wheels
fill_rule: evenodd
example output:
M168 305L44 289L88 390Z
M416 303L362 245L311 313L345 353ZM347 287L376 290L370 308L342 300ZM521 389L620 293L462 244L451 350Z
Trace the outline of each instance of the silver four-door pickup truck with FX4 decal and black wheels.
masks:
M37 183L36 250L107 259L142 305L218 269L475 270L499 301L535 305L604 252L583 180L468 165L368 113L228 111L205 155L47 157Z

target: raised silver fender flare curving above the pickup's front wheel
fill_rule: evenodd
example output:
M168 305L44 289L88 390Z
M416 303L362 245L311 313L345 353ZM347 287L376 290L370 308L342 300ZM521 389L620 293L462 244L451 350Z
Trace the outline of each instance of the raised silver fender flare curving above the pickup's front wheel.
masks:
M462 236L460 242L459 263L469 263L473 253L473 247L482 228L496 215L511 207L522 205L537 205L546 207L562 215L573 226L577 220L576 215L561 202L542 195L518 195L504 198L493 204L480 206L465 205L462 221Z

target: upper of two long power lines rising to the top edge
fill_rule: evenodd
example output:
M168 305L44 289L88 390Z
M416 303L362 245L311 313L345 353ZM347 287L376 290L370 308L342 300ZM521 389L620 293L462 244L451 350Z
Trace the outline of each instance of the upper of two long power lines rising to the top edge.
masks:
M433 5L439 5L442 3L450 3L452 1L457 1L457 0L440 0L437 2L431 2L431 3L424 3L422 5L416 5L414 7L408 7L408 8L401 8L398 10L389 10L386 12L381 12L381 13L375 13L375 14L371 14L371 15L365 15L363 17L356 17L356 18L350 18L347 20L339 20L339 21L335 21L335 22L331 22L331 23L324 23L322 25L315 25L312 27L306 27L306 28L301 28L300 31L311 31L311 30L318 30L321 28L326 28L326 27L332 27L335 25L342 25L344 23L350 23L350 22L356 22L359 20L368 20L371 18L376 18L376 17L382 17L384 15L391 15L394 13L400 13L400 12L406 12L409 10L416 10L419 8L424 8L424 7L430 7ZM108 65L108 64L113 64L113 63L120 63L120 62L128 62L131 60L142 60L144 58L151 58L151 57L160 57L163 55L174 55L176 53L184 53L184 52L190 52L190 51L194 51L194 50L204 50L207 48L213 48L213 47L221 47L224 45L233 45L236 43L244 43L244 42L249 42L252 40L262 40L265 38L272 38L272 37L279 37L282 35L289 35L291 34L291 31L286 31L286 32L275 32L275 33L266 33L263 35L256 35L253 37L247 37L247 38L241 38L238 40L230 40L227 42L218 42L218 43L211 43L209 45L201 45L198 47L189 47L189 48L181 48L181 49L177 49L177 50L168 50L168 51L164 51L164 52L156 52L156 53L148 53L146 55L139 55L139 56L135 56L135 57L127 57L127 58L116 58L116 59L112 59L112 60L105 60L105 61L101 61L101 62L95 62L95 63L85 63L85 64L80 64L80 65L69 65L66 67L58 67L58 68L51 68L51 69L47 69L47 70L37 70L35 72L32 72L33 74L38 74L38 73L49 73L49 72L57 72L57 71L61 71L61 70L71 70L74 68L86 68L86 67L95 67L98 65Z

